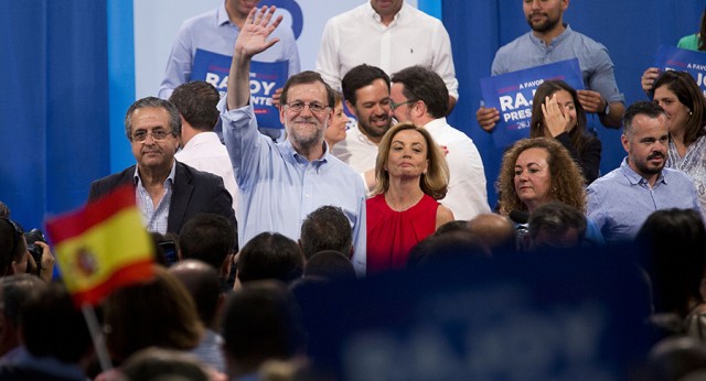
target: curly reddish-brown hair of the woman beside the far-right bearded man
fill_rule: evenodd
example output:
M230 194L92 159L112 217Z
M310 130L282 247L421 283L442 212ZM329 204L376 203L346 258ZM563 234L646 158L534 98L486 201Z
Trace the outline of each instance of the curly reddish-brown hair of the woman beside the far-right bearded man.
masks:
M500 214L507 216L512 210L527 211L527 206L517 196L514 179L517 157L530 149L542 149L547 152L552 198L586 213L584 175L569 152L554 139L530 138L516 141L503 155L495 184L500 195Z

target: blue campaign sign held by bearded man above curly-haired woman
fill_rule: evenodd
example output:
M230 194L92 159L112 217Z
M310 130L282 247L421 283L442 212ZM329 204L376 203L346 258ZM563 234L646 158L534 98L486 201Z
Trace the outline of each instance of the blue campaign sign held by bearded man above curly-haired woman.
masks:
M577 90L584 89L578 58L481 78L485 107L500 111L500 121L493 130L495 146L504 149L518 139L530 137L532 98L547 79L561 79Z

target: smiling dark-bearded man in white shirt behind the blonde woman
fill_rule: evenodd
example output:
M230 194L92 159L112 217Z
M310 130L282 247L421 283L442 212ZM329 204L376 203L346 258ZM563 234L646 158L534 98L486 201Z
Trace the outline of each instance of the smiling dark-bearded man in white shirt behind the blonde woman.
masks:
M357 119L357 127L346 131L345 140L331 153L361 173L372 189L377 144L393 122L389 77L381 68L363 64L346 73L341 84L345 106Z

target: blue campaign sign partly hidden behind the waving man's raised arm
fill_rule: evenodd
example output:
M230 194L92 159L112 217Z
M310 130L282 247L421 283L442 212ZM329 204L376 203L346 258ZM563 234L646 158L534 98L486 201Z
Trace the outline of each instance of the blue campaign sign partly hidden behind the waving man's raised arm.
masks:
M227 55L197 48L190 80L205 80L224 96L228 89L232 59ZM272 106L272 95L285 86L288 72L289 61L250 63L250 101L259 127L282 128L279 110Z

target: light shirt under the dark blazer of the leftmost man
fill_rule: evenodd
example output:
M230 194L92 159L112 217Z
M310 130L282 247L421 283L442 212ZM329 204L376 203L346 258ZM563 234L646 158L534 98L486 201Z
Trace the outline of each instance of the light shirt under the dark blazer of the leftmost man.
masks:
M172 162L172 170L164 179L164 196L159 200L157 207L152 202L152 196L145 188L142 179L140 178L139 168L135 167L135 198L137 207L142 215L142 222L147 227L148 231L167 233L167 224L169 219L169 206L172 204L172 185L174 184L174 174L176 172L176 165Z

